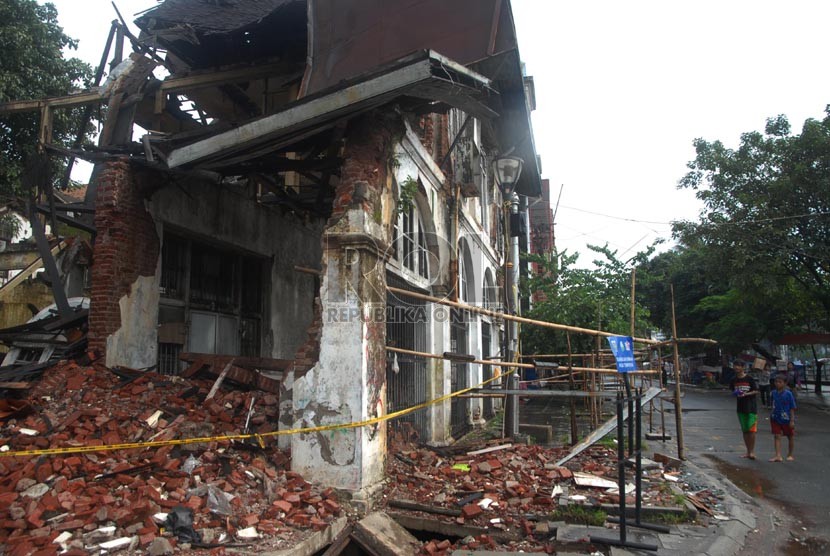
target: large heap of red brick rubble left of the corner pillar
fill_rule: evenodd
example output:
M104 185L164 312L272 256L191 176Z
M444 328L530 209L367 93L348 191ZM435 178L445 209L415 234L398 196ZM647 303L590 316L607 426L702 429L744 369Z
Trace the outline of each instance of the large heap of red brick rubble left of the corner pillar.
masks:
M344 514L336 492L289 470L289 456L275 441L265 439L264 448L250 450L221 439L242 430L254 395L252 432L275 430L277 396L231 389L226 382L203 403L214 382L210 377L121 374L128 382L100 365L60 362L46 369L25 399L4 400L11 410L0 418L0 446L8 454L153 437L200 436L202 442L0 458L0 545L8 554L63 546L114 551L135 545L148 552L159 538L177 549L184 539L169 526L162 532L177 507L191 512L192 528L203 540L225 535L222 546L231 546L254 529L257 537L247 542L282 549L326 530ZM194 388L195 394L185 396ZM148 419L158 411L152 428ZM26 429L37 434L21 433ZM191 473L187 461L195 463Z

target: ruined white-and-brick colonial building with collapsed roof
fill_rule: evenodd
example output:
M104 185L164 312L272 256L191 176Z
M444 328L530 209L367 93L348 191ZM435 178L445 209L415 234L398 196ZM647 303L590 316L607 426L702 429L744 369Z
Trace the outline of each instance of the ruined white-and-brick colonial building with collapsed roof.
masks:
M505 351L497 320L387 286L503 303L493 161L520 158L515 192L541 191L510 2L167 0L136 25L104 85L0 107L108 105L95 147L41 136L95 162L94 210L70 222L94 234L89 349L164 374L244 360L279 381L286 431L377 419L279 437L295 471L371 499L382 417L495 372L387 347ZM400 420L443 445L495 403Z

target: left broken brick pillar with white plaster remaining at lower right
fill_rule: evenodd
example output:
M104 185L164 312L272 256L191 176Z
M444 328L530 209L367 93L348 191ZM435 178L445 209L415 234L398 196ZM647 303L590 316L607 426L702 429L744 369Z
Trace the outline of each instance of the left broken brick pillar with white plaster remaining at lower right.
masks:
M159 237L139 184L126 159L99 168L88 335L108 365L134 368L155 364L156 341L147 340L158 323Z

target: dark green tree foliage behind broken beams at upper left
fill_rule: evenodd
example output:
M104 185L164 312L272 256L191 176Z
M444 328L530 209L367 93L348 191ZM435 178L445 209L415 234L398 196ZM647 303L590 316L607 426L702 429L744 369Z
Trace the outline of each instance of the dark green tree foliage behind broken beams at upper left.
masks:
M0 102L70 93L88 84L92 70L77 58L64 58L63 48L77 42L63 33L52 4L35 0L0 0ZM77 133L82 108L53 111L53 142L70 145ZM21 194L25 160L35 153L39 112L0 116L0 197ZM88 129L87 131L91 131ZM51 175L62 175L63 161Z

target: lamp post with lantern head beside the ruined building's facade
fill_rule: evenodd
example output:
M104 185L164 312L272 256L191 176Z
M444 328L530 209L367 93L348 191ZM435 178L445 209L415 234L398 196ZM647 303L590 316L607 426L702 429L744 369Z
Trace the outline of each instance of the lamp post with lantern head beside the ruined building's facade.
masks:
M510 214L519 213L519 196L515 193L519 176L522 175L524 161L515 156L505 156L493 161L493 171L496 185L501 191L504 201L510 201L510 211L504 210L505 230L507 230L509 253L504 262L504 289L507 301L507 312L516 315L519 309L519 236L510 230ZM516 352L519 347L519 325L510 321L507 325L507 361L516 361ZM519 389L518 369L508 377L507 389ZM505 435L515 437L519 434L519 400L515 395L507 396L504 408Z

